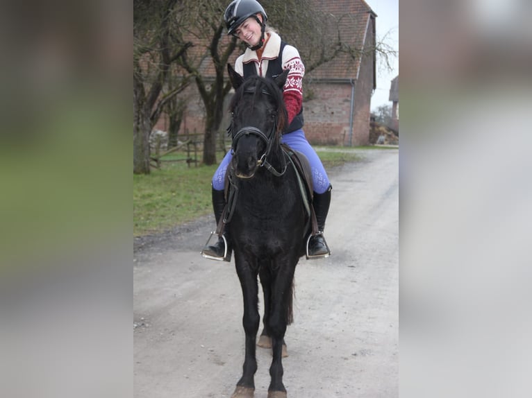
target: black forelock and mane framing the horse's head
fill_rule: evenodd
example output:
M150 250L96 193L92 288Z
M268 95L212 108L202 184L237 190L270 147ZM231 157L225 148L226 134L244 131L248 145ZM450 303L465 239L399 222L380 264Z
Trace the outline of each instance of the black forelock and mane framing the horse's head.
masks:
M244 92L249 89L250 87L253 87L255 94L253 94L253 101L256 100L257 96L265 90L268 92L273 98L276 103L277 107L277 132L279 134L282 134L285 130L285 126L288 119L288 113L286 112L285 107L285 101L283 99L283 92L281 89L277 86L277 83L275 83L274 80L269 78L262 78L260 76L251 76L244 80L244 83L238 87L238 89L235 92L235 95L231 99L231 105L229 105L229 109L231 112L234 112L236 105L238 102L242 99L242 96L244 96Z

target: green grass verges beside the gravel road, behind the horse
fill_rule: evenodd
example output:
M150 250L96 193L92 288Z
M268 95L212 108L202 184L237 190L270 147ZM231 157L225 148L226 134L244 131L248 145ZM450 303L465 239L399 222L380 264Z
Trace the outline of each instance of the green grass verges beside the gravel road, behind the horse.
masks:
M326 170L361 157L351 148L342 152L316 150ZM198 155L201 157L201 154ZM164 159L183 159L181 155L167 155ZM217 154L218 161L222 154ZM216 171L213 166L190 168L185 162L162 162L160 170L149 175L133 175L133 235L155 234L194 220L213 211L210 181Z

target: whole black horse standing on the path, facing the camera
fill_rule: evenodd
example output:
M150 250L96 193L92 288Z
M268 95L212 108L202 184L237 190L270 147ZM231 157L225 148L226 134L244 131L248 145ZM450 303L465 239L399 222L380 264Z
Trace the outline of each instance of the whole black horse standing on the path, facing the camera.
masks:
M231 242L244 298L246 333L242 377L232 397L253 397L255 388L258 276L265 306L261 340L271 341L273 351L268 398L281 398L286 397L281 359L286 327L292 322L294 271L310 234L310 216L297 171L280 142L287 122L282 87L288 70L275 80L253 76L244 81L231 65L228 72L236 90L230 128L229 179L236 192Z

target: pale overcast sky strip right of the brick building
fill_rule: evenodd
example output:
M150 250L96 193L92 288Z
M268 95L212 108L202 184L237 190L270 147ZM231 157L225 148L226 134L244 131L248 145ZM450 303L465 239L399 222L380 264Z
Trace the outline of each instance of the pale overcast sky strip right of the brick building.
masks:
M388 33L384 42L395 51L399 51L399 0L365 0L376 13L377 40L381 41ZM380 105L392 105L390 96L390 82L399 74L399 57L393 60L394 70L386 71L377 59L377 87L372 96L372 110Z

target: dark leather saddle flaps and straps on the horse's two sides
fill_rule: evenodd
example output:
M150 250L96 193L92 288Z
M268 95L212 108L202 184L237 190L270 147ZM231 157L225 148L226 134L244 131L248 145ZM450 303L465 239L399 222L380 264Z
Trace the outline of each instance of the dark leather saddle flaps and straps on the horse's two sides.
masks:
M312 170L310 168L310 163L308 162L307 157L286 144L281 144L281 148L285 153L289 163L292 165L297 175L297 182L299 184L299 191L301 192L301 198L303 198L303 204L305 210L308 214L308 223L310 223L311 235L316 235L319 230L317 227L316 214L314 211L313 197L313 180L312 180ZM232 175L230 169L227 168L225 175L225 184L224 184L224 196L226 205L224 211L222 212L222 217L219 219L219 223L216 228L216 234L222 236L224 232L224 224L228 223L231 220L233 215L233 210L235 209L236 199L238 196L238 187L232 182ZM308 227L305 229L308 230Z

